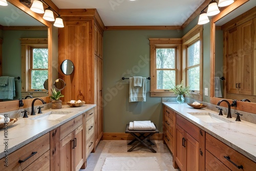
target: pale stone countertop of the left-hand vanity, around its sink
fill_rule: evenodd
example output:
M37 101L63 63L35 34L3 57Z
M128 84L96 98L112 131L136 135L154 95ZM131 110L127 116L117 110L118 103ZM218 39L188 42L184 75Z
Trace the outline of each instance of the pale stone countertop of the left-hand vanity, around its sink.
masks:
M78 108L71 108L68 105L62 105L62 109L48 109L42 111L42 114L28 115L28 118L18 118L18 121L8 127L7 130L0 130L0 159L95 106L96 104L85 104ZM50 111L70 113L56 120L33 119Z

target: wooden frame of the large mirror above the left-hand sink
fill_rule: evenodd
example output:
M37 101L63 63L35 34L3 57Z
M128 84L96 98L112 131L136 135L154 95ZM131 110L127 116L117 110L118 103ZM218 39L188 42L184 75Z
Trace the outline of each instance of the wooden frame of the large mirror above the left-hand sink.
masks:
M47 40L48 41L48 60L49 60L48 61L48 78L49 78L48 83L49 83L49 89L51 89L52 88L52 73L53 73L53 67L52 67L53 27L52 27L52 23L49 23L46 20L42 19L42 15L41 14L37 14L37 13L32 12L28 7L26 7L25 5L20 3L19 0L9 0L8 4L13 5L13 7L15 9L19 9L19 10L12 9L13 13L17 14L17 15L13 14L13 16L18 17L20 14L17 11L22 11L22 12L28 14L30 17L36 19L38 22L40 22L41 24L43 24L44 26L47 27L47 31L48 31L48 33L47 33L47 38L48 38L48 40ZM2 8L4 8L4 7L2 7ZM9 20L10 19L15 19L15 18L9 18ZM2 67L0 67L0 69L2 70ZM49 100L50 100L49 95L47 97L42 97L42 99L44 99L47 102L49 102ZM29 108L29 107L31 107L32 100L33 99L26 99L26 100L24 99L23 100L24 106L22 108ZM18 100L4 101L4 102L0 102L0 103L1 103L0 104L0 113L22 109L22 108L19 108Z

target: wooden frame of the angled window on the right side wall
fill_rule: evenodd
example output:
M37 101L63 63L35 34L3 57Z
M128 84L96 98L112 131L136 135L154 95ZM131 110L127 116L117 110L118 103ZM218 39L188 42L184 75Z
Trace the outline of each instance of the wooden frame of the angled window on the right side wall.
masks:
M197 25L191 29L187 34L182 37L182 78L185 78L185 85L188 80L188 67L187 67L187 49L188 46L194 44L196 41L200 41L200 89L199 91L190 92L189 98L195 100L203 100L203 26ZM190 67L189 67L190 68Z

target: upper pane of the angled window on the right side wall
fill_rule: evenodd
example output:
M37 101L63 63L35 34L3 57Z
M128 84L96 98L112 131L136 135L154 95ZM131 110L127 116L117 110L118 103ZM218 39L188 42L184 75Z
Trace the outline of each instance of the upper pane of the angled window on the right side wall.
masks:
M188 67L198 65L200 63L200 41L187 48Z

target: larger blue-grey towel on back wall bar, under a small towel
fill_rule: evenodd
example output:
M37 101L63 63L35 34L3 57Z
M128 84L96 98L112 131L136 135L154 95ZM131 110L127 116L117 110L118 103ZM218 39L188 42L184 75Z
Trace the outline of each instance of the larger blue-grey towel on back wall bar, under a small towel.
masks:
M146 78L142 78L142 86L140 88L134 87L134 79L130 77L129 86L129 102L146 101Z

